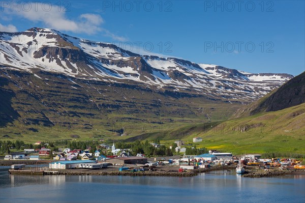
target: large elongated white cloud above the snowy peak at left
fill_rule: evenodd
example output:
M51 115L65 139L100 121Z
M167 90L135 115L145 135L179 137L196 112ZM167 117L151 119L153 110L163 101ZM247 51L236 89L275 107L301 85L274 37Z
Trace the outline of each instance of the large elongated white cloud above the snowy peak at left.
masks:
M51 9L48 11L43 8L44 7L41 3L37 3L35 9L28 11L25 11L24 9L21 9L20 11L14 10L13 13L33 22L43 22L46 27L58 31L85 33L88 35L104 32L112 39L120 41L126 40L124 37L116 36L110 31L102 28L101 25L104 23L104 20L100 15L85 13L81 14L76 19L71 20L67 18L66 12L58 8L56 5L52 5Z

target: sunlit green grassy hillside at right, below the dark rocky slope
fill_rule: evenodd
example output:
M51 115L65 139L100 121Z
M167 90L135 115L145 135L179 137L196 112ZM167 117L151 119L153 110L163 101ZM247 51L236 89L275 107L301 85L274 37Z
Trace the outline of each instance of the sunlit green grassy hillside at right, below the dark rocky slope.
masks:
M196 147L232 152L233 154L291 152L305 154L305 104L275 112L225 121L207 132L196 132L183 138ZM173 140L171 140L173 141ZM167 141L169 142L169 140Z

